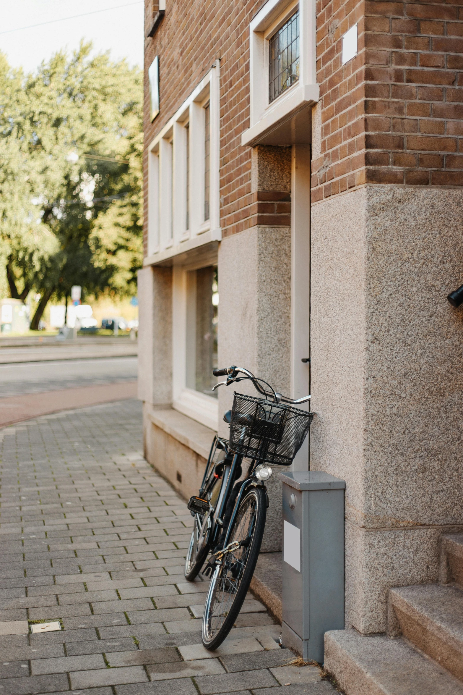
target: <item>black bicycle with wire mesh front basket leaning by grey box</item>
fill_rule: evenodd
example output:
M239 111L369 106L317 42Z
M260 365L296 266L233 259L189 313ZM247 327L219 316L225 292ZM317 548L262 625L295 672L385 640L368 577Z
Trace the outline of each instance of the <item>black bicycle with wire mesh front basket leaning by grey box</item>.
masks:
M202 641L211 651L233 628L251 584L269 506L265 482L271 477L271 464L292 464L313 418L313 413L294 407L308 402L310 395L287 398L243 367L215 369L213 374L227 377L214 390L249 379L260 397L235 391L233 408L224 414L230 439L214 437L199 495L188 502L194 524L185 578L194 580L210 553L203 571L210 575L210 587ZM245 458L251 464L245 480L238 481Z

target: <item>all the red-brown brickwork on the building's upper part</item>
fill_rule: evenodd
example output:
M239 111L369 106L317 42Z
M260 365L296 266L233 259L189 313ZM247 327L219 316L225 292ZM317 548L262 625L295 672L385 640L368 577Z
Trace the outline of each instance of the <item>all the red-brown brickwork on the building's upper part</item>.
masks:
M312 202L368 182L463 184L458 1L317 0L322 133L321 156L312 161ZM287 195L251 191L251 149L241 146L249 127L249 22L263 3L167 0L154 37L145 39L146 145L220 59L223 236L254 224L289 224ZM146 0L146 31L157 8ZM343 67L342 35L355 22L359 52ZM151 124L147 71L156 55L160 114Z

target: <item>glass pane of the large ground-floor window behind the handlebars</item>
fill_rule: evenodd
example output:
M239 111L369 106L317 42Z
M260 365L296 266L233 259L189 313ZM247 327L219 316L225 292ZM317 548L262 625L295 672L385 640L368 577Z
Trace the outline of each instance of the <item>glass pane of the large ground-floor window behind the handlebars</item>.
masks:
M217 398L217 265L187 274L187 388Z

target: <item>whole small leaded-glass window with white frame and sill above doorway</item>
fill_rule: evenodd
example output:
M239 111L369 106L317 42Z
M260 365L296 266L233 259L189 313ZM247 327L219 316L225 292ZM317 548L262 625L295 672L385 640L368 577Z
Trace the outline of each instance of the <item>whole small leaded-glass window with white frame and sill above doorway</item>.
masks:
M292 145L293 117L304 122L319 99L314 0L267 0L249 33L250 126L242 145Z

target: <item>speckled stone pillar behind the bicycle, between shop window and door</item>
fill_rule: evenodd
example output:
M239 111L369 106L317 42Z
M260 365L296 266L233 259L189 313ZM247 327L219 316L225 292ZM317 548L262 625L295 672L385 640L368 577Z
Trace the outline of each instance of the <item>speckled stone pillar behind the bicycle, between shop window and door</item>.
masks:
M262 376L275 389L289 393L291 230L253 227L234 234L219 250L219 363L236 364ZM219 389L219 413L233 404L235 389ZM250 382L239 393L255 395ZM219 418L219 434L228 426ZM269 509L262 552L281 550L282 516L279 466L267 484Z

